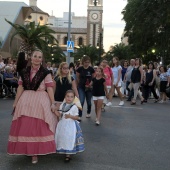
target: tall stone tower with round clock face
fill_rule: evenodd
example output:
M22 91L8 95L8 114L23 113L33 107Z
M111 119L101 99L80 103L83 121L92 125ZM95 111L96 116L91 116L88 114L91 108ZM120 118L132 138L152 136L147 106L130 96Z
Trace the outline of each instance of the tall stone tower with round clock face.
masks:
M103 35L103 0L88 0L87 6L87 44L97 46Z

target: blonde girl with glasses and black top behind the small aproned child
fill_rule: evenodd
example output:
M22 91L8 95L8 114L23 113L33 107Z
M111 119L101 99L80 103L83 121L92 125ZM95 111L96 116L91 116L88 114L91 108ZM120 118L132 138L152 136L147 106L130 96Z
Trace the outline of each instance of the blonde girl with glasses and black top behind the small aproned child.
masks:
M57 76L54 78L54 82L54 98L56 101L57 109L63 102L67 90L74 90L76 96L79 98L78 91L76 88L76 82L74 78L70 75L69 66L66 62L62 62L59 65L59 69L57 70Z

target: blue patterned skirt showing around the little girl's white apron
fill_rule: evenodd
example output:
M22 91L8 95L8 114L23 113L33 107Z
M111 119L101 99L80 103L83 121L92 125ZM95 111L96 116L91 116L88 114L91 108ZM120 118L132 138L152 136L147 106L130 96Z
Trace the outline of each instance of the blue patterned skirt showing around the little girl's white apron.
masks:
M76 140L75 140L74 148L72 150L60 149L60 150L57 150L57 153L59 153L59 154L76 154L78 152L83 152L85 150L82 130L81 130L80 125L77 121L75 121L75 125L76 125L77 132L76 132Z

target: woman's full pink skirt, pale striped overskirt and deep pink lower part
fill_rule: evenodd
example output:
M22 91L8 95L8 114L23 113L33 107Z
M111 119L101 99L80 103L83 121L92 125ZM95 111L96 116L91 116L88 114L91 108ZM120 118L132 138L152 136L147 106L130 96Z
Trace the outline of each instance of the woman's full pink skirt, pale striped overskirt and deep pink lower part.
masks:
M35 97L37 100L33 101ZM34 107L34 111L31 107ZM30 91L22 94L10 129L8 154L32 156L56 153L53 129L56 127L57 119L50 110L48 95ZM29 114L26 115L24 112ZM35 115L39 115L40 118Z

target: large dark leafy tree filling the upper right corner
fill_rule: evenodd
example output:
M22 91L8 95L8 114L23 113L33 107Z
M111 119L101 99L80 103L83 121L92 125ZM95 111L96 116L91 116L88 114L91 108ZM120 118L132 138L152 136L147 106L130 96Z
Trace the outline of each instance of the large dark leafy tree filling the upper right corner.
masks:
M126 36L136 55L150 57L156 49L157 57L167 62L170 53L170 1L129 0L122 11L126 22ZM149 54L149 55L148 55Z

